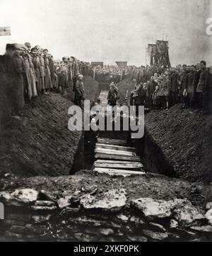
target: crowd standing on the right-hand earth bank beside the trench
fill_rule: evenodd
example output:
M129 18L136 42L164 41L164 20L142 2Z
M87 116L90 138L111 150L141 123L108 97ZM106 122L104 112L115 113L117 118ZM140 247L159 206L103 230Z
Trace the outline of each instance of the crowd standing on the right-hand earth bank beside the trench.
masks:
M170 69L155 66L135 70L128 74L129 79L136 82L131 91L131 105L168 109L182 102L183 108L201 108L211 113L212 70L206 67L205 61L196 66L177 65Z

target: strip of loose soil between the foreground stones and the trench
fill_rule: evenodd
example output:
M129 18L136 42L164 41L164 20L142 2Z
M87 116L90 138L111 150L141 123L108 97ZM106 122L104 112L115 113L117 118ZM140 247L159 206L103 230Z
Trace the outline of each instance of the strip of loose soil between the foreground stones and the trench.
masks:
M57 199L61 197L64 191L73 194L80 192L80 196L86 193L86 188L97 186L98 191L95 196L101 196L102 193L111 189L125 189L128 203L131 199L150 197L153 199L171 200L171 199L189 199L195 206L204 208L212 200L212 189L200 183L185 182L180 179L171 179L164 176L132 177L110 177L107 174L95 174L92 171L81 171L73 176L64 177L33 177L28 179L1 179L0 190L13 190L32 188L36 190L51 191Z

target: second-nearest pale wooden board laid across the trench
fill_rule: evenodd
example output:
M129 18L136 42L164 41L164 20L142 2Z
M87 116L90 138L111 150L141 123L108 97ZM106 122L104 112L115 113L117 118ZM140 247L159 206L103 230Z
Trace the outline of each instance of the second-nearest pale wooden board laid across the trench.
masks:
M98 168L110 168L110 169L132 169L132 170L141 170L143 165L133 165L132 162L129 162L129 164L117 164L116 161L112 162L112 163L98 163L95 162L94 167L98 167Z

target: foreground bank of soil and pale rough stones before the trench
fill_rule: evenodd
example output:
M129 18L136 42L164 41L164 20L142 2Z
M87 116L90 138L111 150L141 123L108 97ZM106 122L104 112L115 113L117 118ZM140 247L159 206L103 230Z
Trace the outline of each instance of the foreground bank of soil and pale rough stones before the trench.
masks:
M90 171L1 182L1 241L212 241L212 191L203 184Z

